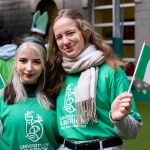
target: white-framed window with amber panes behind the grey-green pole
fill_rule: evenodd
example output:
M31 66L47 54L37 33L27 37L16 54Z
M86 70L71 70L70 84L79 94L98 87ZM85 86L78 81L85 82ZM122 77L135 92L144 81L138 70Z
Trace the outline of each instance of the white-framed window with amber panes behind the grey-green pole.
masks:
M92 23L106 43L113 43L113 29L115 9L114 0L93 0ZM135 20L134 20L134 0L120 0L120 31L123 39L122 57L134 60L135 48Z

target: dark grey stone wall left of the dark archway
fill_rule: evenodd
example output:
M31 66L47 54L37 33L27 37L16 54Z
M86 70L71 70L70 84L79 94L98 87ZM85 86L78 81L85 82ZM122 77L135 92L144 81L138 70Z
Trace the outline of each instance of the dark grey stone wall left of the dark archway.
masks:
M29 0L1 0L0 26L13 34L28 33L32 24Z

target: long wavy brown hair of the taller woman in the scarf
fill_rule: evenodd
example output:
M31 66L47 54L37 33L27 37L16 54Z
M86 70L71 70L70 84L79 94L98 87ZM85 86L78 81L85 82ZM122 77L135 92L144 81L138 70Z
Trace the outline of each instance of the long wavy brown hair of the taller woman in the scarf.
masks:
M62 68L62 54L57 46L53 26L57 20L62 17L70 18L76 23L77 28L81 31L85 44L91 43L95 47L104 53L105 62L117 70L117 66L125 68L126 63L122 62L113 53L112 48L104 42L102 37L92 28L90 23L84 19L84 17L73 9L62 9L58 11L56 16L51 22L51 27L49 31L49 43L50 43L50 56L47 68L47 89L46 91L52 94L58 94L63 86L65 73ZM50 86L49 86L50 85Z

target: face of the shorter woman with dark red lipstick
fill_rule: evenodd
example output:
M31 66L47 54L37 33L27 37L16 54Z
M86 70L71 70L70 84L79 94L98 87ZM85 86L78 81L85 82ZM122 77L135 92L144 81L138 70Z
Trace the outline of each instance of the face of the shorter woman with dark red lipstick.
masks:
M31 48L21 49L18 52L15 67L20 80L26 84L36 83L43 70L37 52Z

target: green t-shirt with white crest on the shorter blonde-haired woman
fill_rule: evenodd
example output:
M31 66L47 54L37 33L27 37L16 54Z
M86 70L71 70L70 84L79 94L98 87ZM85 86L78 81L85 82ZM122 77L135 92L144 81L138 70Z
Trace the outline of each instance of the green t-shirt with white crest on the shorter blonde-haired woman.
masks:
M35 98L12 105L0 98L0 120L3 125L0 150L55 150L58 147L56 112L46 110Z

